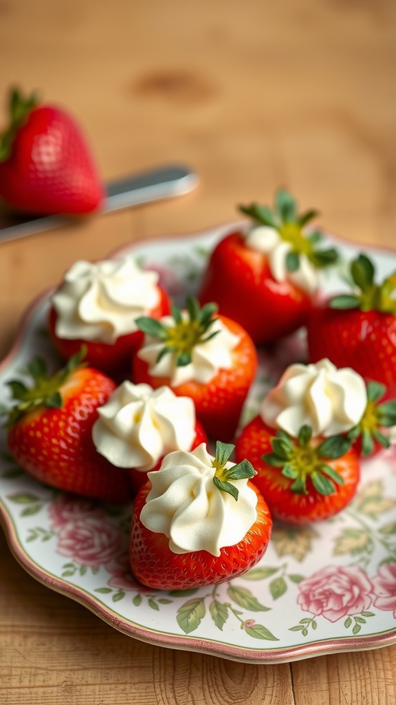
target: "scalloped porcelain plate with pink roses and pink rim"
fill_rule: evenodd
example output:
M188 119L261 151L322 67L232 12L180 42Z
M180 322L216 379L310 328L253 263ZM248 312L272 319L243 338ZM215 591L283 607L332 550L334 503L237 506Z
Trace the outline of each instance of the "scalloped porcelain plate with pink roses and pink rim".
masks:
M182 302L194 293L214 244L233 226L123 250L155 268ZM342 261L356 247L337 241ZM117 252L116 255L120 254ZM371 250L378 274L396 269L394 253ZM324 283L339 290L344 265ZM0 366L5 386L33 355L59 365L47 335L48 294L29 309ZM242 423L288 364L306 360L302 335L262 350ZM128 571L131 507L94 503L43 486L16 467L0 431L0 517L16 558L30 575L84 604L131 637L247 663L280 663L332 651L396 642L396 447L364 462L354 503L333 520L276 525L255 568L226 584L156 591Z

